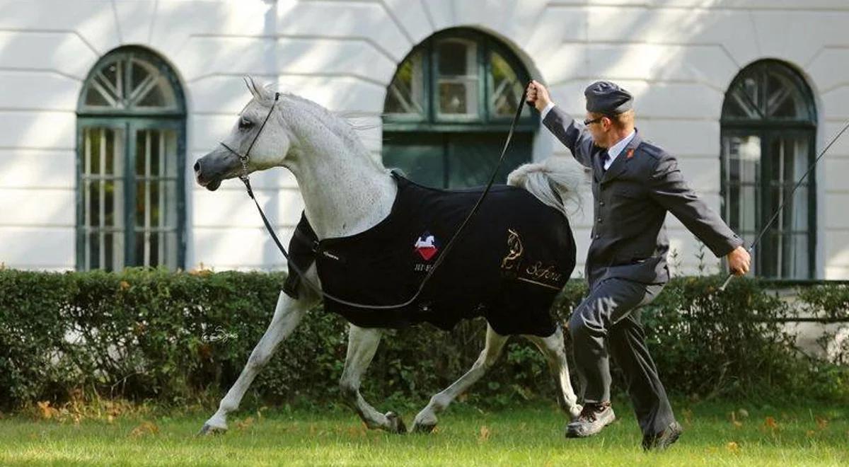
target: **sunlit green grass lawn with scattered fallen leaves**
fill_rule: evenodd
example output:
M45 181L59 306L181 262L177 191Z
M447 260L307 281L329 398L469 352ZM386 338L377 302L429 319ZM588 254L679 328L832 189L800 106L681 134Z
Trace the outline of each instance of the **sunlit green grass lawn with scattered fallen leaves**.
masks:
M194 434L211 413L79 423L6 415L0 465L849 465L846 407L679 402L683 436L649 454L629 406L614 407L615 424L585 440L565 439L565 418L541 404L493 412L458 404L436 432L406 436L367 431L343 409L243 411L228 433L209 437Z

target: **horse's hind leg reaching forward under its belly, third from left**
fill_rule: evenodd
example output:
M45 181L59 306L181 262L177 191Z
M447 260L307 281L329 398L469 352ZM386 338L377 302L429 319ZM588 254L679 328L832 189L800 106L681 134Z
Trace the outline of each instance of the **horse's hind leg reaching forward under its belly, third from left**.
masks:
M486 374L486 370L492 368L492 364L498 359L507 340L508 336L499 335L492 330L489 324L486 324L486 346L481 351L481 355L472 365L472 368L461 376L459 380L454 381L453 385L448 386L434 397L430 397L430 402L428 402L427 406L416 415L416 419L413 422L413 431L433 430L438 421L436 414L445 410L448 404L453 402L454 398L469 389L469 386L475 384L477 380L480 380Z

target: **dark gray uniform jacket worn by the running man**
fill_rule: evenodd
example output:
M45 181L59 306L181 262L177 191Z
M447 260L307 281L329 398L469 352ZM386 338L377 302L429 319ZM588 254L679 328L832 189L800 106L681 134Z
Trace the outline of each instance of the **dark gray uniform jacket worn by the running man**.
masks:
M717 257L743 240L687 186L678 161L639 133L604 172L599 148L582 123L554 107L543 125L593 170L593 242L585 273L590 288L609 278L644 284L669 280L664 219L672 212Z

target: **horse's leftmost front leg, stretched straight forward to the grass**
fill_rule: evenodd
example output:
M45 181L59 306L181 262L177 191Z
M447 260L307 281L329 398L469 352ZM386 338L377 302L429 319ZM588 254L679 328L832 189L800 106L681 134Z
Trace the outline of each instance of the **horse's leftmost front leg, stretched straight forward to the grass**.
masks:
M303 295L305 294L301 292L301 296ZM248 386L250 386L256 374L271 358L278 344L292 334L312 302L311 299L306 298L295 300L284 292L280 292L271 324L268 325L268 329L254 347L253 352L250 352L248 363L245 364L245 369L242 369L242 373L239 374L239 379L233 383L233 387L230 388L230 391L227 391L227 395L221 400L218 411L206 420L206 423L200 429L200 434L227 430L227 414L239 408L239 402L242 401L245 391L248 390Z

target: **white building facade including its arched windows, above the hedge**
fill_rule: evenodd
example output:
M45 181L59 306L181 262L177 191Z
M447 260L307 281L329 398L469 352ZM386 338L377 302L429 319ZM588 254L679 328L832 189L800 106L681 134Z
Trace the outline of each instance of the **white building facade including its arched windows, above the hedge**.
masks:
M846 0L2 0L0 262L284 268L238 180L194 183L250 98L241 76L356 114L376 158L447 187L488 173L460 158L498 145L533 77L579 118L590 82L631 91L644 138L749 241L786 201L758 273L849 279L849 135L788 200L849 119L847 24ZM570 157L526 112L511 163ZM294 177L252 179L288 238ZM717 270L666 224L678 273Z

